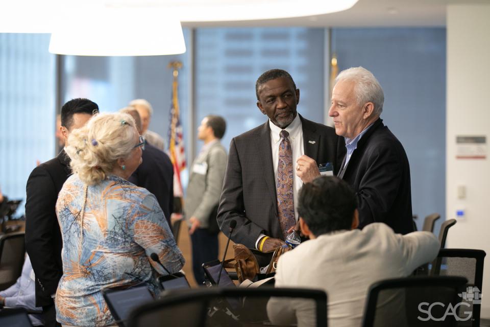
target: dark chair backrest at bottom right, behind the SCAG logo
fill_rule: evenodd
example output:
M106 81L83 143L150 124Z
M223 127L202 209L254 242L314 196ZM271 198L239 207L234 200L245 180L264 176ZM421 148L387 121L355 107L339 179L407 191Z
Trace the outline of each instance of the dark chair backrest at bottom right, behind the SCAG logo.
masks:
M464 277L447 276L377 282L367 293L361 326L459 326L459 321L453 315L446 315L446 311L449 306L460 306L458 293L464 290L466 283ZM458 317L466 319L467 315L461 313L464 310L459 311Z

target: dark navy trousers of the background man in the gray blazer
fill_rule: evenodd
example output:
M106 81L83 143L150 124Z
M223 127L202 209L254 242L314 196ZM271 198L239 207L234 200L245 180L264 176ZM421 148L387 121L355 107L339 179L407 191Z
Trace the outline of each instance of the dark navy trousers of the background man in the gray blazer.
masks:
M218 234L210 233L207 228L197 228L190 236L192 242L192 270L195 281L204 283L203 263L218 259Z

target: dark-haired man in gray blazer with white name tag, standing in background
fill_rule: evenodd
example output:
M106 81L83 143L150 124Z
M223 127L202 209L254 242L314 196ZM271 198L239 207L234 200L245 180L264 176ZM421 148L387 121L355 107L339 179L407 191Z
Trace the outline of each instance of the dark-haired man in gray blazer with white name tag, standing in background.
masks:
M192 243L192 269L198 285L204 283L202 264L218 258L216 212L225 178L227 153L219 140L225 135L221 116L208 115L198 128L204 146L191 166L184 213Z

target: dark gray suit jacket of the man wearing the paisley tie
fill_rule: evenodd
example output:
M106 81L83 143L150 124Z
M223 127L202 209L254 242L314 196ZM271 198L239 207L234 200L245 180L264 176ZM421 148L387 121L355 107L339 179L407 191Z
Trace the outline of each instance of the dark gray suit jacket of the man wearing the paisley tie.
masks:
M305 155L315 159L317 164L332 162L336 173L339 162L337 164L338 136L335 130L301 115L300 119ZM230 221L236 220L231 237L235 243L255 248L260 233L284 239L277 214L275 184L271 129L267 120L265 124L234 137L230 143L217 221L219 228L228 235Z

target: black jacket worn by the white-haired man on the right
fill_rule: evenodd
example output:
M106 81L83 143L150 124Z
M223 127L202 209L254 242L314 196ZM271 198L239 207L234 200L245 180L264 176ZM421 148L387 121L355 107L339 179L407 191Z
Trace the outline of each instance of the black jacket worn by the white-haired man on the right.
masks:
M382 119L362 135L339 177L357 193L359 228L383 222L396 233L413 231L408 158Z

